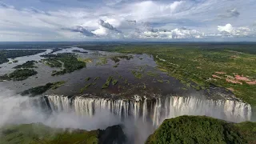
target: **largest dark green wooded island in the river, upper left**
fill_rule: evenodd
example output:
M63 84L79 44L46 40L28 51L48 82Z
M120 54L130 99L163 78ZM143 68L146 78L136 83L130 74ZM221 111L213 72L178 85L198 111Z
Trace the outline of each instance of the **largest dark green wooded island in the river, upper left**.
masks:
M86 66L86 62L78 61L78 58L74 54L64 53L64 54L46 54L42 55L46 57L46 62L50 63L50 66L59 67L64 63L64 69L53 71L52 76L61 75L66 73L72 73L74 70L80 70Z

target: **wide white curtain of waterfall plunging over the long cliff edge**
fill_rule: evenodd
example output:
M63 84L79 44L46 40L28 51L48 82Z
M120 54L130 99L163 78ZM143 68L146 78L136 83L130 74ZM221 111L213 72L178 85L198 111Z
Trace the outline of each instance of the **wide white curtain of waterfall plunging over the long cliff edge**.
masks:
M46 96L53 112L74 110L77 114L94 116L100 110L109 110L119 118L142 118L158 126L166 118L180 115L206 115L230 122L250 120L251 107L234 100L198 99L194 97L162 97L154 100L127 100L110 98L67 98L59 95Z

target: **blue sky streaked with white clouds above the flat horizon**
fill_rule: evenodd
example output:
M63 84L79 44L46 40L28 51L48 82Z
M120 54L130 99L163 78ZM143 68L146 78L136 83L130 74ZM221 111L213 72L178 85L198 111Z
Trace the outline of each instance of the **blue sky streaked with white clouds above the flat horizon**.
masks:
M254 41L255 0L0 0L0 42Z

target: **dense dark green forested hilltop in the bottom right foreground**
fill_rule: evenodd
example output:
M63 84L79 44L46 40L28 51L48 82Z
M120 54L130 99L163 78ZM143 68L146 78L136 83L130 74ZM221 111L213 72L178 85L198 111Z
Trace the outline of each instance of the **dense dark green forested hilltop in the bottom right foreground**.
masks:
M256 123L234 124L205 116L181 116L165 120L146 144L254 143Z

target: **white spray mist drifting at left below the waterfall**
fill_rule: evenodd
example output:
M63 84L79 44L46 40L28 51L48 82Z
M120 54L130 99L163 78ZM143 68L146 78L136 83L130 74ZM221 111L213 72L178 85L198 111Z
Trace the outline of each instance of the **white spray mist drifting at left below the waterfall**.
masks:
M20 96L14 91L0 88L0 127L6 124L41 122L50 127L97 130L121 123L114 114L104 110L93 118L78 115L73 111L47 114L39 106L40 103L36 102L38 98Z

